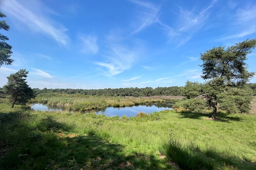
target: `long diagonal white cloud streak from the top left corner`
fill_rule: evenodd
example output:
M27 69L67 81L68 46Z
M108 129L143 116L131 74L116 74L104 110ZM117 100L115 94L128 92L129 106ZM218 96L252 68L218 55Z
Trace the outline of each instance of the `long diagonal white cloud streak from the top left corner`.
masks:
M58 43L67 46L69 42L67 29L46 17L47 14L55 14L55 12L46 8L41 2L33 1L32 4L26 5L17 0L6 0L1 2L1 8L8 16L25 24L31 31L44 33Z

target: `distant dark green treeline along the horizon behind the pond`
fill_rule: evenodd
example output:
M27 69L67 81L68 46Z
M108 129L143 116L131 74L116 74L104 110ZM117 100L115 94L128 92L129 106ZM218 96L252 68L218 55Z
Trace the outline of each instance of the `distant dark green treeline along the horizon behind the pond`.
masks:
M64 93L64 94L84 94L88 96L132 96L132 97L144 97L144 96L181 96L182 87L157 87L157 88L105 88L105 89L47 89L42 90L34 88L35 94L41 93Z

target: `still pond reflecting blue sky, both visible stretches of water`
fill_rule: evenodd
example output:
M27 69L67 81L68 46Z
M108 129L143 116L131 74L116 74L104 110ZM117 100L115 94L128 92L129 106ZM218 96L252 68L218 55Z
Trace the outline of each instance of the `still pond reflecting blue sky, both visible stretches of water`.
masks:
M96 114L105 114L106 117L114 117L119 116L122 117L126 115L127 117L136 116L137 113L140 111L144 113L154 113L155 111L162 111L166 109L172 109L172 103L148 103L144 105L138 106L130 106L130 107L107 107L105 109L95 109L85 111L83 113L92 113L95 112ZM32 104L32 110L40 110L40 111L62 111L64 107L53 107L47 106L45 104Z

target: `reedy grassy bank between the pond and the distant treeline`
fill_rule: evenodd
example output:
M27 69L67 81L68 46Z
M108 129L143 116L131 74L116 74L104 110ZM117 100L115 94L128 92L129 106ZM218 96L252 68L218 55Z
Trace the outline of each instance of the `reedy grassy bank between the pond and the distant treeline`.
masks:
M161 98L106 97L85 96L82 94L39 94L32 102L40 102L49 106L65 106L67 110L85 111L105 107L134 106L152 102L164 102Z

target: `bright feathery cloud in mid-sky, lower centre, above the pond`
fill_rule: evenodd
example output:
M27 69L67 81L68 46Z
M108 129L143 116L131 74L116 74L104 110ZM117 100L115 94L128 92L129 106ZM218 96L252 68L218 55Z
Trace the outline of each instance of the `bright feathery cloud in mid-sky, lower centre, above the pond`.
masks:
M111 45L108 55L104 55L105 62L95 62L101 66L105 76L114 76L130 69L139 57L138 49L128 49L121 45Z

